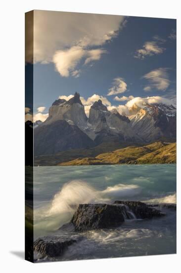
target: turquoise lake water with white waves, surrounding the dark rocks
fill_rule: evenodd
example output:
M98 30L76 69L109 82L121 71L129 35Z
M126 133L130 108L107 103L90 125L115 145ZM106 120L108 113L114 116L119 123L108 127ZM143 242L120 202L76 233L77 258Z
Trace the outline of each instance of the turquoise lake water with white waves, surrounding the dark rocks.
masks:
M115 200L176 203L176 164L35 167L34 238L57 234L81 203ZM59 260L175 253L176 212L86 238Z

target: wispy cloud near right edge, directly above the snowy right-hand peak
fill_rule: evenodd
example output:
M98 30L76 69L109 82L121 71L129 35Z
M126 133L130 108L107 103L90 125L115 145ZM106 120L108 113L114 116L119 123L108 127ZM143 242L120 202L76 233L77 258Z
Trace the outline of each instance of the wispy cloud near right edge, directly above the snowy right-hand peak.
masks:
M164 91L170 85L168 68L158 68L152 70L149 73L145 74L143 78L147 79L150 83L149 88L147 88L148 86L144 87L144 90L146 88L145 91L150 91L152 88Z

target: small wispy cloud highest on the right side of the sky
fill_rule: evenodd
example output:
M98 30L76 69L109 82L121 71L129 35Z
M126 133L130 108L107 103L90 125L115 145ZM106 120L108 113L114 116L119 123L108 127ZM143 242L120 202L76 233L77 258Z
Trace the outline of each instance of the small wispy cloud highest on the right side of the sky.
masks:
M158 45L158 41L145 42L141 49L136 50L135 58L144 59L145 56L153 56L163 53L165 48Z

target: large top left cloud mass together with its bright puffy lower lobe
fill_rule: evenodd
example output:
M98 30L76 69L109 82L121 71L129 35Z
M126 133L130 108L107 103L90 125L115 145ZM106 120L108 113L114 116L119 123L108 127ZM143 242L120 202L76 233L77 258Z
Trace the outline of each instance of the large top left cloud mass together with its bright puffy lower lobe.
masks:
M79 77L81 60L85 58L85 65L100 60L106 51L97 47L124 26L124 16L35 10L34 63L53 62L61 76Z

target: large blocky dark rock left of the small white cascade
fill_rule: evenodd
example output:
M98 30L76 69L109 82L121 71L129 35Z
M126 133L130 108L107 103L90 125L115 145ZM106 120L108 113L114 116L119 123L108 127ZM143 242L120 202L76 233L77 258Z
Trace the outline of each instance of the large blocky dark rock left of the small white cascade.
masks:
M113 228L124 222L125 206L80 204L71 222L76 231Z

